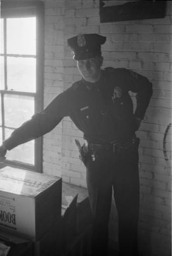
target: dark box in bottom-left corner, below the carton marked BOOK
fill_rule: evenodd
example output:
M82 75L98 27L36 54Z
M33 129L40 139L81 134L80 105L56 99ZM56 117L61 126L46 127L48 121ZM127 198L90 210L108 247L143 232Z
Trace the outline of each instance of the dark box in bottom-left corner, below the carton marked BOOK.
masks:
M33 242L16 235L0 231L0 255L32 256Z

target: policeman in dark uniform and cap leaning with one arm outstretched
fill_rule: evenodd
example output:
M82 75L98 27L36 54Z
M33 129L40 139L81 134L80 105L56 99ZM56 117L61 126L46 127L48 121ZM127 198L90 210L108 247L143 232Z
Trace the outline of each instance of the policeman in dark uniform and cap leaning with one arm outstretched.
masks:
M135 132L143 120L152 85L146 77L126 68L101 68L101 45L106 37L80 34L68 39L82 80L59 94L41 113L16 129L0 147L7 150L51 131L69 116L84 133L87 144L79 147L86 165L86 179L93 213L92 254L105 256L112 191L119 222L122 256L136 256L139 214L138 145ZM137 106L129 91L136 93Z

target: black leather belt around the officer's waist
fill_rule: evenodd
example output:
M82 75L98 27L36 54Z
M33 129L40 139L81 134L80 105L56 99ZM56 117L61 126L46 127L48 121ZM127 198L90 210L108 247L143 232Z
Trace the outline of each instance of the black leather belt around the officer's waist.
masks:
M96 151L110 151L110 152L120 152L126 150L131 144L134 144L138 138L132 137L129 141L122 143L122 142L112 142L109 144L96 144L96 143L89 143L88 149L92 150L93 152Z

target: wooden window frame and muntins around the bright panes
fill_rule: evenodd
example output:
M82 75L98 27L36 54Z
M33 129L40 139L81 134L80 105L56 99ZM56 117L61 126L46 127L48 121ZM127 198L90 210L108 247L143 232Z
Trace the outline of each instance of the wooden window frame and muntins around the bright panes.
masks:
M36 92L20 92L7 90L7 56L26 56L24 54L7 54L6 51L6 19L12 17L36 17ZM4 18L4 89L0 90L1 105L2 105L2 135L5 136L5 120L4 120L4 94L17 94L33 96L35 102L34 113L43 110L43 84L44 84L44 2L42 1L1 1L1 18ZM29 55L31 57L32 55ZM11 165L14 167L24 168L27 170L33 170L36 172L42 172L42 159L43 159L43 141L42 137L35 140L35 163L34 165L28 163L22 163L18 161L5 160L4 165Z

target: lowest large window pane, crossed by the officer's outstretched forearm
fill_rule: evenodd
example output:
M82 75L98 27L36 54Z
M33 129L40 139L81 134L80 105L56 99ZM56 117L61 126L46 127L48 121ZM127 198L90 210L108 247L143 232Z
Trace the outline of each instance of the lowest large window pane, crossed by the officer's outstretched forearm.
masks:
M5 139L11 135L13 130L11 129L5 129ZM15 147L11 151L7 151L6 159L7 160L14 160L19 161L23 163L29 163L34 164L34 144L35 141L29 141L27 143L24 143L22 145L19 145Z

